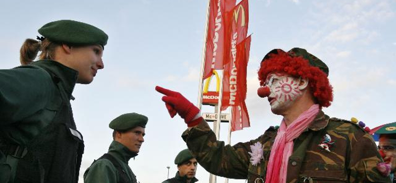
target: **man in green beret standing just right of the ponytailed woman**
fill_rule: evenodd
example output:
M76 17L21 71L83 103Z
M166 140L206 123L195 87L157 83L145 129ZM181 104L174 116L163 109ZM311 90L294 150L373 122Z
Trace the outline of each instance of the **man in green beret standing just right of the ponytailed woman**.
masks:
M123 114L110 122L113 141L108 152L85 171L85 183L137 183L128 166L129 159L138 155L145 141L148 118L138 113Z

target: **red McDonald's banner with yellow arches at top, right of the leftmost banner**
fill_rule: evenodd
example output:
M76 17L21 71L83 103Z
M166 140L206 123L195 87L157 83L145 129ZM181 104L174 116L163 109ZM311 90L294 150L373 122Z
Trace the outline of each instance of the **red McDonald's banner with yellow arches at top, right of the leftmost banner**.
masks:
M229 46L225 50L228 62L224 62L223 98L221 110L237 106L246 98L246 67L250 49L250 36L247 35L248 1L242 0L231 12L227 13ZM244 43L246 42L246 43Z

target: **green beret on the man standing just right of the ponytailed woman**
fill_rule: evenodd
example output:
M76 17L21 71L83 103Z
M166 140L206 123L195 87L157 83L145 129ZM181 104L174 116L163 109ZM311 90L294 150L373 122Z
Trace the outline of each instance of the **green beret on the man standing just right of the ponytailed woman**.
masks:
M113 119L113 121L108 124L108 127L117 131L129 130L138 126L146 128L147 121L148 118L144 115L126 113Z

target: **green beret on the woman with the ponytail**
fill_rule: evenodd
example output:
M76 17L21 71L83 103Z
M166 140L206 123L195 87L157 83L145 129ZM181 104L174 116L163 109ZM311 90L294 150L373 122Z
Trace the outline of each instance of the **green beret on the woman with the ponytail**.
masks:
M99 28L74 20L49 22L39 29L39 33L49 41L71 45L107 44L108 36Z

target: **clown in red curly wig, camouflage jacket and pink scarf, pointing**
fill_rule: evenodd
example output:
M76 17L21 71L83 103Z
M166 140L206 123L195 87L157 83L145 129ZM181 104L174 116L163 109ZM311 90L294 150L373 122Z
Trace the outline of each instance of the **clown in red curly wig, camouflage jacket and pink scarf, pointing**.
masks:
M256 139L233 146L216 140L199 109L183 95L161 87L158 92L171 115L179 114L188 129L182 137L208 172L247 183L389 183L376 166L381 157L361 127L330 118L333 90L327 65L302 48L273 49L260 64L257 93L266 97L272 113L281 115ZM265 121L265 119L263 119ZM324 138L325 137L325 138ZM262 144L260 162L250 161L254 144ZM323 148L321 148L321 144Z

